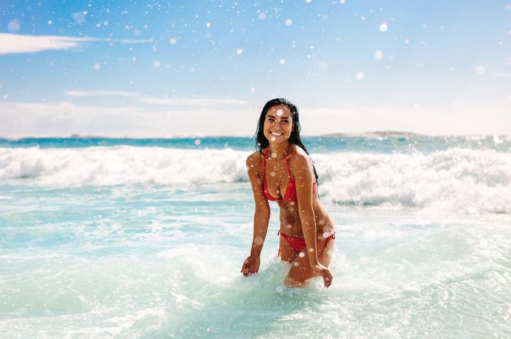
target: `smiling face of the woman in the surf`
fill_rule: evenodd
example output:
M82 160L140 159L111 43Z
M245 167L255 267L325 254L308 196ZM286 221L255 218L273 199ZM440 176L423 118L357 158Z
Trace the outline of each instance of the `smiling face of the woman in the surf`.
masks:
M263 132L266 139L271 143L288 140L293 129L293 116L286 106L276 105L266 112Z

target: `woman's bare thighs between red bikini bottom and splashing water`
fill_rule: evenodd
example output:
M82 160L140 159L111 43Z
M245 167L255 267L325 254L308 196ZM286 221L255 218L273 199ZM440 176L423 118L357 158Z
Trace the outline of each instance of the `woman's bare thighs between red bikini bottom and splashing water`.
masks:
M322 238L322 237L321 237ZM316 242L316 251L317 251L317 259L323 265L328 267L330 265L330 261L332 260L332 254L334 249L334 239L328 240L328 244L325 248L326 239L317 240ZM323 251L324 248L324 251ZM293 249L294 251L294 249ZM321 251L323 251L323 256L321 257ZM296 251L295 251L296 253ZM303 286L304 282L307 279L317 277L319 274L313 271L313 268L310 267L309 255L308 251L304 249L304 256L300 257L296 256L293 261L293 266L289 270L289 273L284 280L284 283L287 286Z

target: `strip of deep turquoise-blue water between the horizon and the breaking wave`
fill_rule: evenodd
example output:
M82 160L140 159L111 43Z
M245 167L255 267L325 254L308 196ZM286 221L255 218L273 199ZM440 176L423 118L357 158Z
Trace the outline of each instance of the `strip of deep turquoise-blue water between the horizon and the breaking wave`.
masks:
M411 151L431 152L453 147L465 149L492 149L508 152L510 136L372 136L372 137L304 137L309 151L328 153L332 151L360 151L369 153L409 153ZM76 148L127 145L134 147L169 147L177 149L223 149L231 148L251 151L254 140L240 137L207 138L20 138L2 139L0 147L58 147Z

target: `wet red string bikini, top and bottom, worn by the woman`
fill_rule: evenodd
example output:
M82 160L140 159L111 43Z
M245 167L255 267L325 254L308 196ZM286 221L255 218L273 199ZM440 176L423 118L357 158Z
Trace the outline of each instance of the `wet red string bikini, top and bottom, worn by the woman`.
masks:
M284 195L282 196L282 199L277 199L275 197L272 197L272 195L270 194L270 192L268 190L268 186L266 185L266 156L268 155L268 152L269 152L269 150L266 151L266 153L264 154L264 158L263 158L263 168L264 169L263 169L263 174L262 174L262 182L263 182L264 197L266 197L266 199L271 200L271 201L286 201L286 202L295 202L295 203L297 203L298 202L298 197L297 197L297 194L296 194L296 184L295 184L295 180L293 180L293 177L291 176L291 169L289 168L289 163L287 161L286 152L284 152L284 160L286 160L286 165L287 165L287 168L288 168L288 175L289 175L289 181L288 181L288 184L286 186L286 193L284 193ZM313 192L315 192L316 190L317 190L317 183L314 182L313 183ZM302 252L302 250L306 246L305 238L293 238L291 236L287 236L286 234L280 233L280 231L278 231L277 235L279 235L279 234L297 252ZM326 245L328 244L328 242L331 239L335 239L335 232L333 232L332 234L330 234L330 236L328 238L326 238L325 246L321 250L320 258L323 258L323 251L325 251ZM280 246L279 246L279 254L278 255L280 255Z

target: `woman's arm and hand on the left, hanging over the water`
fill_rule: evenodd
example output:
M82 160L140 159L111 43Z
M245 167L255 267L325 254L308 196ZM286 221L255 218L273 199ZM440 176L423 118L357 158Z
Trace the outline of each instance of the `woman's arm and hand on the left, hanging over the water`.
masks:
M253 237L250 255L243 263L241 272L243 275L250 275L259 270L259 257L261 255L262 245L268 231L270 221L270 205L268 199L264 197L262 191L262 180L258 173L260 169L260 153L255 152L247 158L247 172L249 173L250 184L252 186L253 200L255 203L255 212L253 214Z

